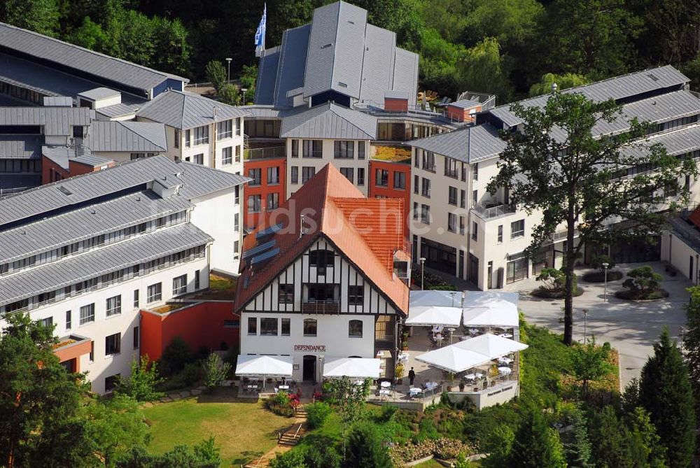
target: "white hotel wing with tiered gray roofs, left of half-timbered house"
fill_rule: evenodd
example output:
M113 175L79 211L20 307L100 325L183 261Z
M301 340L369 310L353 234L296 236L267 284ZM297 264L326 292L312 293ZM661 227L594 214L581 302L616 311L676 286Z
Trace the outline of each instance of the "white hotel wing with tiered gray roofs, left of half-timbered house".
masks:
M210 269L232 267L216 253L239 236L235 194L246 180L155 156L1 199L0 315L54 325L66 368L109 391L148 339L139 310L204 290Z

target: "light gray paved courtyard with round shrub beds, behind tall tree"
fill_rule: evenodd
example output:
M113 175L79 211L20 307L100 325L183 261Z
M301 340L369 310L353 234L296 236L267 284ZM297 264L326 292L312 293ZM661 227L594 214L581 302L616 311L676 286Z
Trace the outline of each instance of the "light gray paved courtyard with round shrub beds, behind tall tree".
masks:
M603 283L585 283L583 295L574 298L573 339L583 341L584 314L588 309L587 334L595 335L598 343L610 341L619 350L620 377L624 385L632 378L638 377L647 357L653 353L652 346L661 333L661 328L668 327L671 336L680 342L680 327L685 325L683 305L688 300L688 288L692 283L687 278L668 276L661 262L650 264L654 271L664 276L663 288L669 292L667 299L651 302L630 302L617 299L615 291L622 289L624 277L619 281L608 282L608 303L603 302ZM619 264L617 269L623 272L640 267L643 264ZM578 269L582 275L590 269ZM521 292L519 309L526 320L535 325L545 326L554 332L563 333L563 299L538 299L529 292L538 288L540 283L533 278L507 285L505 290Z

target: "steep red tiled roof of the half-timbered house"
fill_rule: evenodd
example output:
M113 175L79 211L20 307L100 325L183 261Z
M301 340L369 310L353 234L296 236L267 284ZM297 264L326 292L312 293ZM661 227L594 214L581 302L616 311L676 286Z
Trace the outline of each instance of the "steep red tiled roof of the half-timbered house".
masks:
M300 236L300 217L305 232ZM258 245L255 234L282 223L283 229L264 241L275 240L279 253L258 267L241 262L235 309L241 309L318 236L325 236L393 302L408 312L408 288L393 275L393 255L404 248L403 201L367 199L335 166L327 164L277 210L267 213L246 236L243 252Z

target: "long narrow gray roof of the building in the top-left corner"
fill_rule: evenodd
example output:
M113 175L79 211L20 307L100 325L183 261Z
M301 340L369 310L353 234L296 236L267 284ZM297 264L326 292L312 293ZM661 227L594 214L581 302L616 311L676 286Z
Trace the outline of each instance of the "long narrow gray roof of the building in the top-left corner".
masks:
M187 78L163 73L126 60L109 57L77 45L10 24L0 23L0 46L17 50L43 62L52 62L71 69L113 80L129 87L148 91L168 78L187 83Z

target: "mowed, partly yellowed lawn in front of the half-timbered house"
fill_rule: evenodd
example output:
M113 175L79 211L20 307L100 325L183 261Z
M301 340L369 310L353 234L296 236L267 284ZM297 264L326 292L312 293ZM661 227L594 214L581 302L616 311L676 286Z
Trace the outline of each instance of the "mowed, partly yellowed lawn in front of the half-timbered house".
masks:
M222 467L245 464L276 446L277 434L291 418L276 416L254 400L216 392L145 408L153 439L149 450L163 453L176 445L194 445L214 436Z

